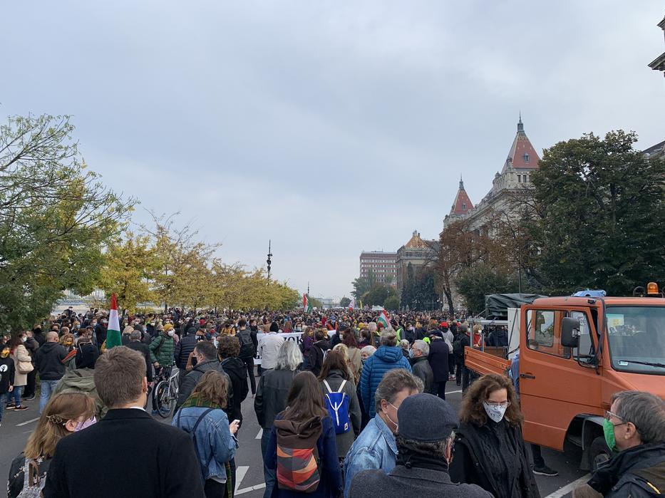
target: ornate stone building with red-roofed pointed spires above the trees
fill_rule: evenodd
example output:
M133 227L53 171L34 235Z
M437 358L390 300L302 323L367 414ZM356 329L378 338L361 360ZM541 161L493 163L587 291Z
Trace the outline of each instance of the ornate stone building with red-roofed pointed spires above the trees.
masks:
M517 121L517 133L512 140L508 155L500 172L496 172L492 181L492 189L478 204L471 204L460 180L460 188L455 196L453 207L443 219L443 227L447 227L458 219L469 219L473 229L491 231L490 217L496 212L510 211L510 199L514 192L522 188L532 188L531 175L538 169L540 156L527 137L522 123L522 113Z

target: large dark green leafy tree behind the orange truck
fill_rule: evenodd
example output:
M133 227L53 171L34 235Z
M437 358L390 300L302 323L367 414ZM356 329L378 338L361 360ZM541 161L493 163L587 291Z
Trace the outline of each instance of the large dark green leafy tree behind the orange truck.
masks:
M545 150L532 175L540 276L550 294L579 288L626 295L665 280L665 162L649 161L622 130Z

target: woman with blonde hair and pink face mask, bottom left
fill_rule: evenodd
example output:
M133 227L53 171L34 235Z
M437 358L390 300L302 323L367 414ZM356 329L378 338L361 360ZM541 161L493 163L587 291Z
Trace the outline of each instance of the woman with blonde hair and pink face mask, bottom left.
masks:
M53 395L28 438L25 450L11 462L7 484L9 498L18 497L26 485L43 489L58 441L93 425L96 422L95 413L95 401L86 394ZM30 472L26 474L26 470Z

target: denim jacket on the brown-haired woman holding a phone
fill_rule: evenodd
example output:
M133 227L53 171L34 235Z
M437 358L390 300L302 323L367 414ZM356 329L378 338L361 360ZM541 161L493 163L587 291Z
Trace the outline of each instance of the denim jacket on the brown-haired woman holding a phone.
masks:
M181 408L173 417L171 425L191 434L196 421L205 410L208 410L205 406ZM210 477L217 477L226 481L224 464L234 457L237 441L229 430L229 419L224 410L212 410L205 415L196 429L194 444L197 446L197 455L202 460L202 479L205 481Z

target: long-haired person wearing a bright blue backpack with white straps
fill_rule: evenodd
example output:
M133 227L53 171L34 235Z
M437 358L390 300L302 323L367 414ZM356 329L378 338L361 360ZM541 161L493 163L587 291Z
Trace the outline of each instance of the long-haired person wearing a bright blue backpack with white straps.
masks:
M346 453L360 434L361 411L356 395L356 384L349 374L349 365L340 351L330 351L326 355L319 374L319 384L336 429L337 456L340 462L344 463ZM336 398L346 398L346 400Z

